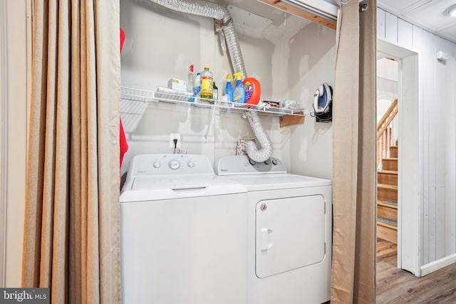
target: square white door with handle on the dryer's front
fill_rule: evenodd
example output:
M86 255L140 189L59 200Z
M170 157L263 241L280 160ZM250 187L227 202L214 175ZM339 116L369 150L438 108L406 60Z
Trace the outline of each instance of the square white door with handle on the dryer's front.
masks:
M325 200L321 195L259 201L256 208L259 278L323 261Z

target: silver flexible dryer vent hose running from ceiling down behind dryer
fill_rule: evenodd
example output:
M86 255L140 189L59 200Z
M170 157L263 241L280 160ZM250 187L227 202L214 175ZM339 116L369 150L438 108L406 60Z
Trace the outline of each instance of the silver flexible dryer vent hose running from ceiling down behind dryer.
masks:
M234 23L229 11L211 1L204 0L150 0L161 6L174 11L180 11L186 14L193 14L197 16L209 17L216 21L222 21L222 28L225 39L227 41L229 58L234 68L234 72L241 72L244 77L247 77L245 71L244 60L242 59L241 48L237 38L236 31L234 30ZM264 162L272 155L272 144L264 128L261 125L258 114L255 111L248 112L245 117L252 127L254 136L257 139L259 148L255 142L247 143L247 154L255 162Z

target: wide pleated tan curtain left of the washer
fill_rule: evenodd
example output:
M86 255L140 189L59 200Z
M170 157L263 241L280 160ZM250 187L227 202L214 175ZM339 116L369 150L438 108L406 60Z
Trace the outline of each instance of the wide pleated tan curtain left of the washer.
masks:
M24 287L120 303L119 1L35 0Z

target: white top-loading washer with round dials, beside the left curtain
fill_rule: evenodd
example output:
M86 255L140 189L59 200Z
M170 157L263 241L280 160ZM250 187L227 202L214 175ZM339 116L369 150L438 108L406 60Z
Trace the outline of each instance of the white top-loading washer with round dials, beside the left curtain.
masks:
M133 157L120 194L123 303L247 303L246 202L203 155Z

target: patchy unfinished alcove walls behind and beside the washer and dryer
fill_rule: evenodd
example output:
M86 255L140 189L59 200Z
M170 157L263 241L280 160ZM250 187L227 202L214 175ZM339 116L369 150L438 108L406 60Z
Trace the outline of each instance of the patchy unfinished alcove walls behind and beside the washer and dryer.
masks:
M257 5L269 12L275 10ZM276 14L284 16L283 12ZM311 110L318 85L325 81L333 84L335 31L289 15L286 21L269 24L265 31L242 28L234 21L242 30L238 37L247 73L261 83L261 99L296 100ZM233 71L214 35L212 19L146 2L121 1L120 25L126 33L121 56L123 86L157 90L171 77L186 80L187 69L194 64L196 70L209 65L219 92L224 91L224 80ZM209 109L150 103L137 130L128 134L130 149L123 172L134 154L172 153L170 132L181 134L182 149L206 154L212 160L235 154L239 139L253 137L249 123L239 114L215 112L214 125L212 115ZM331 178L331 124L314 121L308 115L304 125L280 128L279 117L261 117L273 142L274 156L284 160L289 171Z

